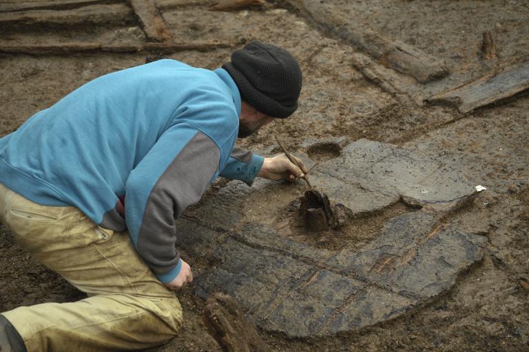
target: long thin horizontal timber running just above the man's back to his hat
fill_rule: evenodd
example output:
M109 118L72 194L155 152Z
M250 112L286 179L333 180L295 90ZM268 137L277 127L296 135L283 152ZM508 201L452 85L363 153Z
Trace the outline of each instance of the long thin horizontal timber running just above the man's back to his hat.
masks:
M180 52L185 50L196 50L207 52L225 47L235 47L227 43L205 42L205 43L143 43L138 45L105 45L101 43L52 43L32 45L0 45L0 53L4 54L27 54L27 55L64 55L97 52L115 53L144 53L144 52Z

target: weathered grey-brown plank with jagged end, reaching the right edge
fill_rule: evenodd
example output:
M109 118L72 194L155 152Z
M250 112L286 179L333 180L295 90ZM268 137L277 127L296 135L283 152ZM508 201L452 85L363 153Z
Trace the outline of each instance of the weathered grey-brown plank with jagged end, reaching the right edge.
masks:
M494 104L529 89L529 61L431 96L430 104L448 104L461 113Z

